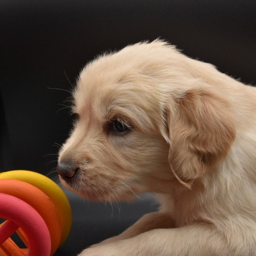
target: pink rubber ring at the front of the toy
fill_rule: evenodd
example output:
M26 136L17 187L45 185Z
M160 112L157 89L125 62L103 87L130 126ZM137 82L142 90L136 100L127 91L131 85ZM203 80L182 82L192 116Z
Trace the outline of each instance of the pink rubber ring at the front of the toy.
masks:
M29 243L28 256L50 256L51 237L44 219L26 202L0 193L0 217L23 229ZM5 234L0 234L0 238Z

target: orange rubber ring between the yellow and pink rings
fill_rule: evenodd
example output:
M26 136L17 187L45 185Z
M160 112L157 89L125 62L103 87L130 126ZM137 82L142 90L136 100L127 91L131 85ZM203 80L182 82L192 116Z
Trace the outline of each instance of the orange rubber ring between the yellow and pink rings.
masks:
M53 255L60 245L62 229L56 207L49 197L37 187L18 180L0 180L0 192L27 202L41 215L49 229Z

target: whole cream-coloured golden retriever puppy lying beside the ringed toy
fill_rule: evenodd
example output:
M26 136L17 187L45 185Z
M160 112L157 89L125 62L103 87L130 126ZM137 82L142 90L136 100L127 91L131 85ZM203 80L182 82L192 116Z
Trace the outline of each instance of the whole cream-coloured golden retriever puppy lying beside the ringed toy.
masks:
M92 61L73 98L64 186L161 203L80 256L256 255L256 88L155 40Z

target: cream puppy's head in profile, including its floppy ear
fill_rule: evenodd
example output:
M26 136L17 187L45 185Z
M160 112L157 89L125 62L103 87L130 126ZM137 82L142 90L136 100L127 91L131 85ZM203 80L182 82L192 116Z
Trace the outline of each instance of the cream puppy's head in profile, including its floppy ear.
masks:
M59 153L66 187L94 200L128 200L177 180L190 186L227 154L234 139L227 102L184 85L192 78L183 60L155 41L85 67L73 92L79 118Z

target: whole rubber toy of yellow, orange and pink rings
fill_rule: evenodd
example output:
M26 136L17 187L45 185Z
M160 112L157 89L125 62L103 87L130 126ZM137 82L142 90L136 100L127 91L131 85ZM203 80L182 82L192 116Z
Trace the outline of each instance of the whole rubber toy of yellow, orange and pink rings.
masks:
M0 173L0 256L52 256L64 244L72 223L69 201L42 174ZM17 233L27 248L10 238Z

